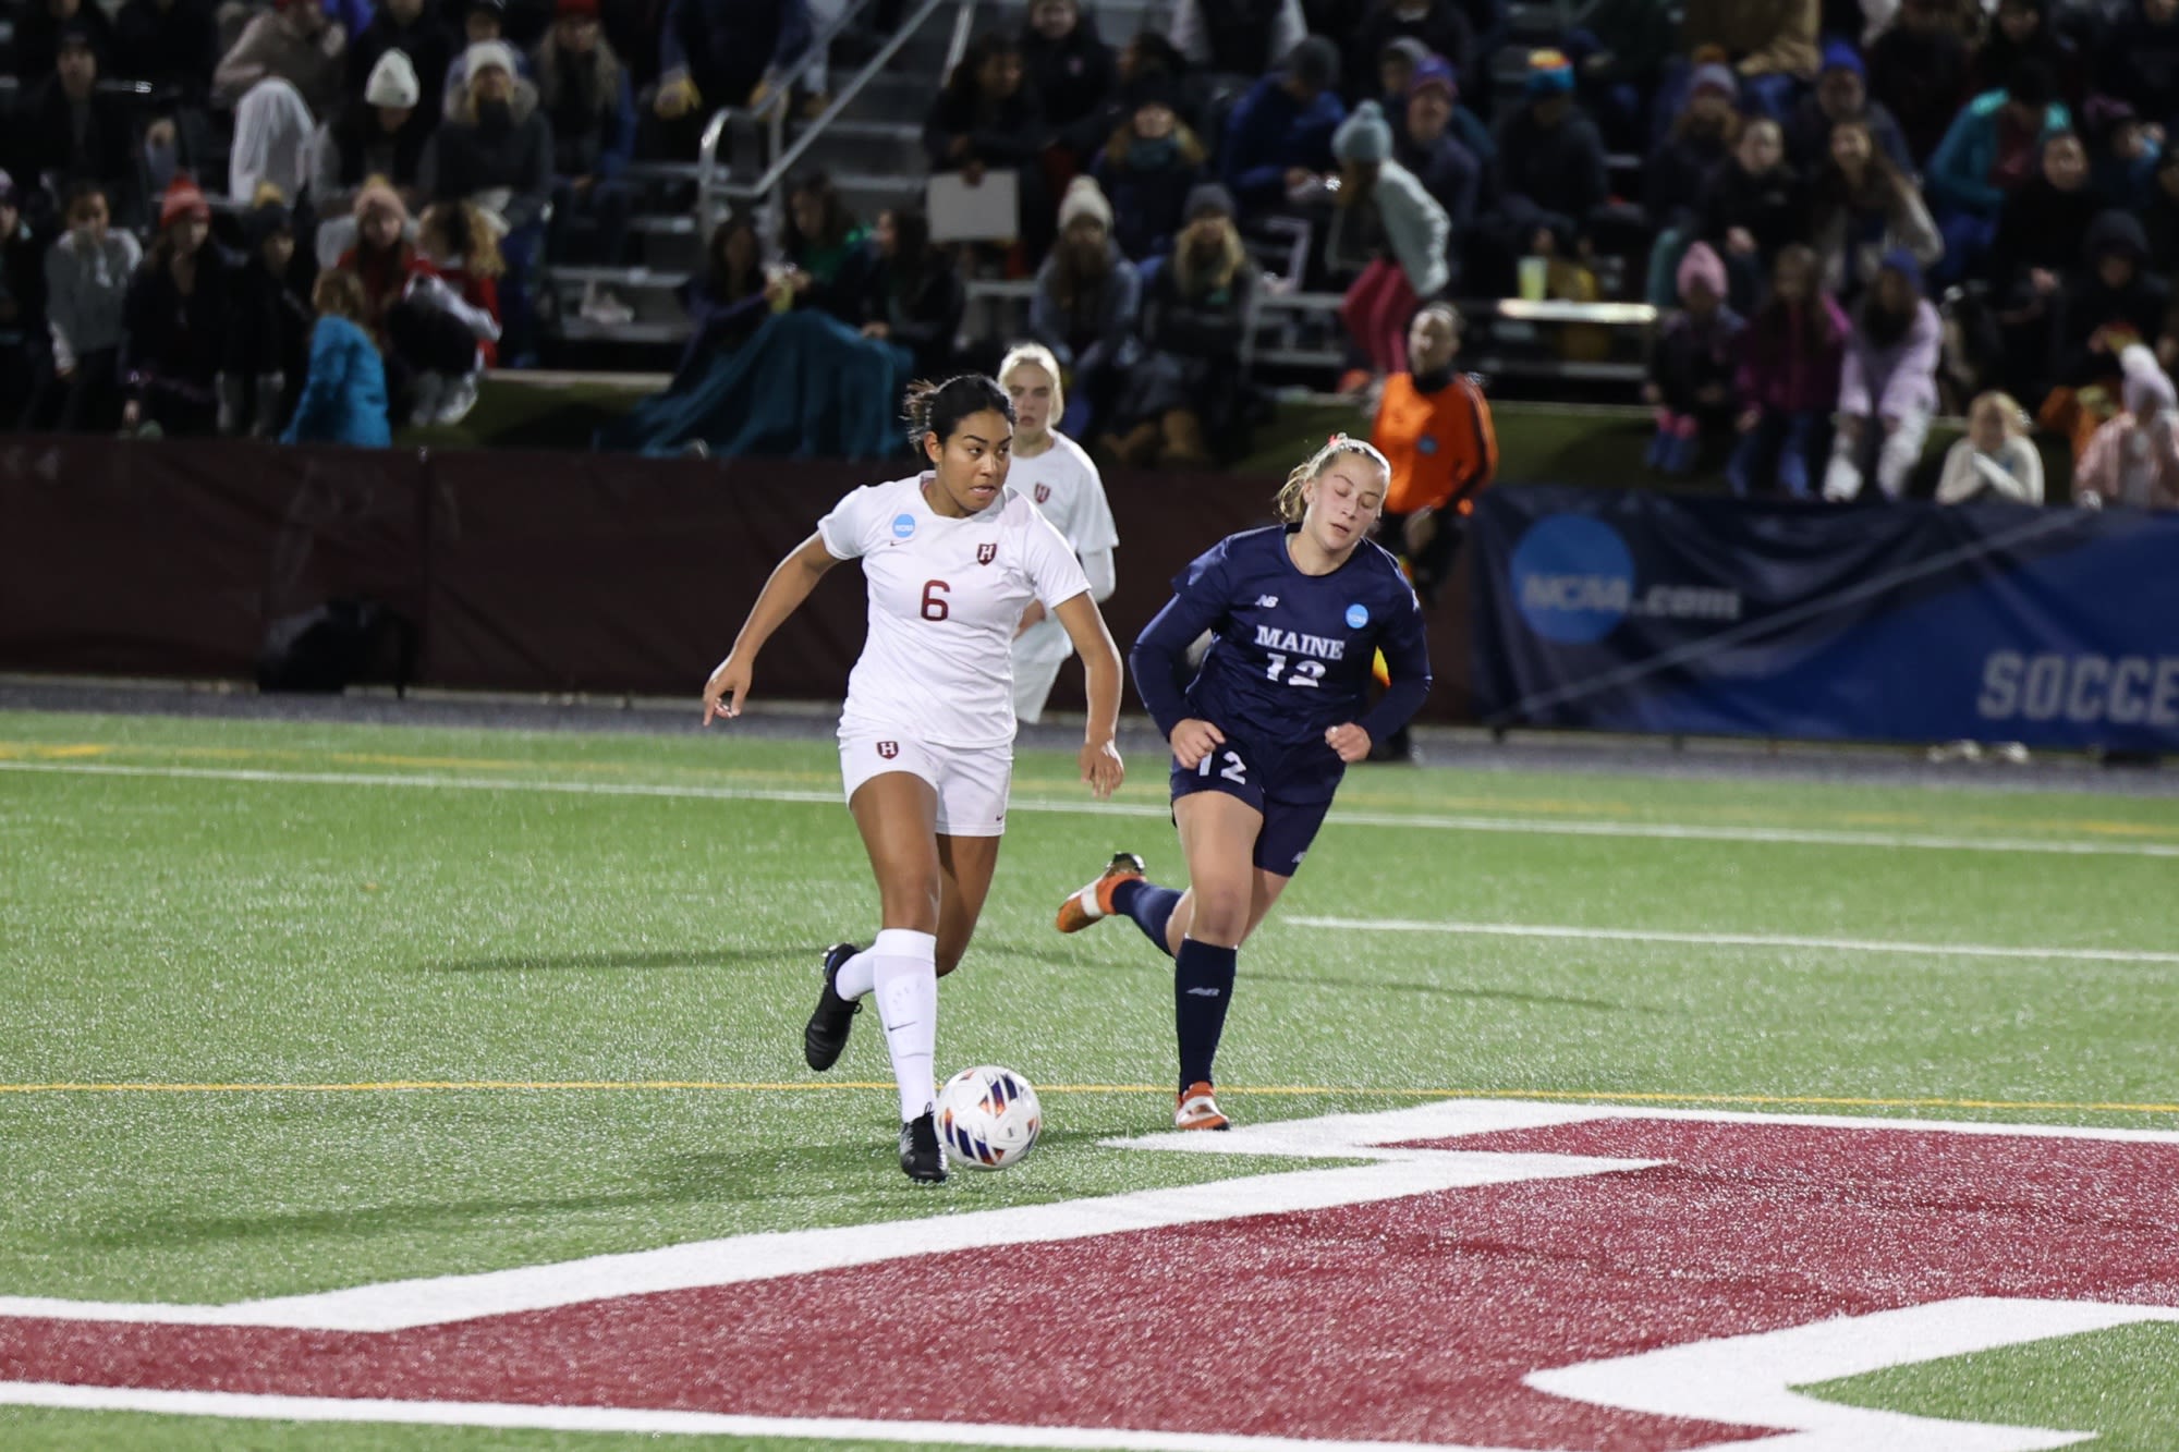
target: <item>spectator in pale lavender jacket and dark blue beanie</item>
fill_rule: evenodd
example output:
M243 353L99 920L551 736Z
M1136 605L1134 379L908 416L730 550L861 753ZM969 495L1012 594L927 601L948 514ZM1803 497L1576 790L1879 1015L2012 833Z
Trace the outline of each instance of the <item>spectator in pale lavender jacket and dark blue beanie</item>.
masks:
M1885 499L1904 493L1937 412L1941 342L1944 325L1922 297L1922 264L1904 246L1891 249L1854 307L1846 338L1824 499L1861 497L1870 475Z

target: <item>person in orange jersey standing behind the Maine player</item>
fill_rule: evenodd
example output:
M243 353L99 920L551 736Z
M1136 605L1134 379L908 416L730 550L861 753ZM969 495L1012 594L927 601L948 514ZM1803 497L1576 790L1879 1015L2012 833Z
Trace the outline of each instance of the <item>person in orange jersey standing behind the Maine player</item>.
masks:
M1408 373L1384 384L1371 443L1392 464L1379 534L1401 556L1423 604L1453 573L1475 495L1497 473L1497 434L1482 384L1460 373L1460 310L1427 303L1408 323Z

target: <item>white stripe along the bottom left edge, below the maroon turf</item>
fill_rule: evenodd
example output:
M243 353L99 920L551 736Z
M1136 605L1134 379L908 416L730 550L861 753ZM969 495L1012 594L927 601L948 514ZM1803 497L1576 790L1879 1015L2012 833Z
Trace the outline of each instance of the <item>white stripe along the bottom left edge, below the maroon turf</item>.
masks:
M65 1382L0 1382L0 1406L255 1417L266 1421L379 1421L392 1426L495 1426L523 1432L647 1432L652 1437L769 1437L821 1441L946 1443L970 1448L1083 1448L1085 1452L1504 1452L1447 1443L1310 1441L1218 1432L1127 1432L1090 1426L987 1421L872 1421L850 1417L732 1417L636 1406L521 1406L510 1402L397 1402L281 1397L242 1391L148 1391Z

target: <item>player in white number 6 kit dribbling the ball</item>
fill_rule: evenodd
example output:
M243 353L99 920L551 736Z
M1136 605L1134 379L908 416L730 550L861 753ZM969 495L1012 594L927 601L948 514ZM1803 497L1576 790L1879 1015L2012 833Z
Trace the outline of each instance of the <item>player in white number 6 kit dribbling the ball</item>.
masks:
M1007 828L1013 632L1035 600L1081 652L1090 674L1081 776L1098 798L1122 778L1120 650L1074 552L1007 488L1013 406L998 384L981 375L915 384L909 438L930 469L850 493L780 560L704 682L704 724L741 715L771 632L828 569L863 560L869 637L848 678L839 767L878 876L882 927L865 951L843 942L826 953L802 1053L811 1068L830 1068L863 994L874 994L900 1084L900 1169L939 1182L937 981L967 951Z

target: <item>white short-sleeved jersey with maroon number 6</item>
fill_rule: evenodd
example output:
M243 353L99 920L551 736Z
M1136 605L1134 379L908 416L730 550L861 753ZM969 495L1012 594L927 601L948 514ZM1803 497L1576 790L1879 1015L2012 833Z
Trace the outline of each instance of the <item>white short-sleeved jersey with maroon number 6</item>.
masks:
M817 521L839 560L863 560L869 637L848 676L841 735L902 730L933 746L1013 741L1013 632L1090 589L1081 560L1009 484L991 508L946 519L924 480L859 488Z

